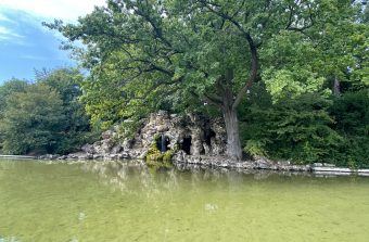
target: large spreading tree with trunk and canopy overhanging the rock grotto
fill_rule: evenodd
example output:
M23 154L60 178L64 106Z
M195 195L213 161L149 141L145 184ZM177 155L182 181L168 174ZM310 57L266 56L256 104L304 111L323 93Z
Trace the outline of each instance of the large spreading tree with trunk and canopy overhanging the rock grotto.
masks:
M264 71L271 92L318 90L322 78L309 63L318 58L314 49L325 35L320 31L335 20L328 15L341 14L332 12L338 7L351 10L352 2L110 0L77 24L55 21L48 26L86 44L75 53L90 69L84 100L93 120L137 117L165 100L181 109L209 104L222 113L228 155L240 160L242 99ZM283 39L289 40L284 46ZM298 61L290 55L289 48L298 52L298 47L309 54L307 65L302 53ZM284 60L271 55L280 48L287 51Z

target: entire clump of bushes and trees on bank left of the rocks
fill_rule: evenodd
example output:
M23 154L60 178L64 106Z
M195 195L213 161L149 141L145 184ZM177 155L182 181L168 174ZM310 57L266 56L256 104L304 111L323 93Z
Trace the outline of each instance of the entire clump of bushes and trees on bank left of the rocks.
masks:
M37 73L35 84L10 80L0 87L2 152L59 153L99 137L78 102L82 76L75 69Z

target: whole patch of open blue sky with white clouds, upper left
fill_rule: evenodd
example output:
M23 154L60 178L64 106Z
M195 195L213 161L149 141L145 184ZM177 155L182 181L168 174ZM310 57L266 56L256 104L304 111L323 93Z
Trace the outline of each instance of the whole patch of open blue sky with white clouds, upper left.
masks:
M31 80L35 69L76 65L68 52L59 49L62 36L41 23L76 22L94 4L104 0L1 0L0 84L12 77Z

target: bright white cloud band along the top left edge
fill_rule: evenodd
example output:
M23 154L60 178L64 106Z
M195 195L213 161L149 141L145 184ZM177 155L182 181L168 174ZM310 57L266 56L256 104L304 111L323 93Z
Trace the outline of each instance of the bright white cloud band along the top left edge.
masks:
M41 17L71 22L92 12L94 5L105 5L105 0L1 0L0 10L10 8Z

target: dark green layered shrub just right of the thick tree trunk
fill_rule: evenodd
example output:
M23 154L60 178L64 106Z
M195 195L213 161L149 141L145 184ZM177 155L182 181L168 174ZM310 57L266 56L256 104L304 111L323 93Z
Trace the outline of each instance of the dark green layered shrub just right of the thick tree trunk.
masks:
M329 106L329 100L316 93L266 106L250 105L246 112L251 115L241 124L245 151L298 164L325 162L342 140L331 128L334 120Z

